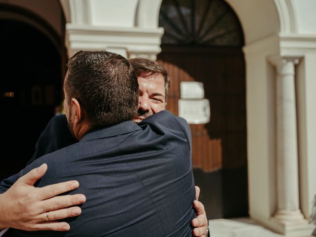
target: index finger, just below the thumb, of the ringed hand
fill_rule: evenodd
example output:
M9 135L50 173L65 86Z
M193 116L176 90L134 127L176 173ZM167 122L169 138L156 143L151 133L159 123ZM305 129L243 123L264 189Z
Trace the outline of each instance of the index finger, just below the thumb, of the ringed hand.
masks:
M38 197L41 200L54 197L56 195L77 189L79 187L79 182L76 180L62 182L58 184L47 185L42 188L38 188Z

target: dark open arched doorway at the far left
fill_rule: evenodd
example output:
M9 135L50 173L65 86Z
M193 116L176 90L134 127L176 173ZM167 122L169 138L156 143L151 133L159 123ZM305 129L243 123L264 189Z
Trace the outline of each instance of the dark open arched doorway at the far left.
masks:
M60 50L38 29L1 20L0 32L2 180L33 155L40 132L62 102L62 76Z

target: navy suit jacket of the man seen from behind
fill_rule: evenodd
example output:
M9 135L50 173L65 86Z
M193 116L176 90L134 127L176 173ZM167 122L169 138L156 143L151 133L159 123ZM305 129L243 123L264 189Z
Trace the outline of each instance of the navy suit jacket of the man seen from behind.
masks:
M10 236L192 236L195 188L191 134L184 119L163 111L144 120L90 131L78 143L33 161L18 177L47 163L37 187L70 179L87 201L67 220L68 232Z

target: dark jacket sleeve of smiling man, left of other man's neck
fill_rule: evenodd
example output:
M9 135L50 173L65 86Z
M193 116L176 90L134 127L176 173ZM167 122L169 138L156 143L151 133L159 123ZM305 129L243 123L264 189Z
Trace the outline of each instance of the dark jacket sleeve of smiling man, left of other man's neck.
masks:
M66 116L54 116L50 119L44 131L40 134L35 145L35 153L27 165L43 155L67 147L75 142L77 142L77 140L72 136L68 129ZM21 174L18 173L2 180L0 183L0 194L8 190L20 177Z

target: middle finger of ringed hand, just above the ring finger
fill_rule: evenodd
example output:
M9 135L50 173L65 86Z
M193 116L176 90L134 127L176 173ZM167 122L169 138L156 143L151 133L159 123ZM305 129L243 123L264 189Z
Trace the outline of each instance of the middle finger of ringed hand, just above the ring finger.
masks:
M78 205L85 202L86 198L82 194L57 196L46 199L40 203L41 209L45 212L57 210L64 207Z

